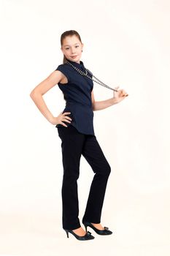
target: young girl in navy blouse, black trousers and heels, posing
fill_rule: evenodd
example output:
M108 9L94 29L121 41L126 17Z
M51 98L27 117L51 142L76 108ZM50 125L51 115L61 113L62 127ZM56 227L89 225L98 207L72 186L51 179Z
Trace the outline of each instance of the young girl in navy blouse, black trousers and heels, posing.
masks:
M61 138L63 161L62 184L62 223L67 237L69 233L78 240L90 240L94 236L87 231L93 228L98 235L110 235L112 231L101 225L101 209L111 167L98 144L93 129L93 111L108 108L128 94L124 90L115 90L114 97L96 102L93 94L92 73L82 61L83 43L77 31L70 30L61 34L63 64L59 65L45 80L31 91L40 112L58 129ZM63 92L66 107L57 116L53 116L42 97L58 84ZM117 86L118 88L119 86ZM80 225L77 179L80 175L80 157L85 157L95 175L90 186L87 206Z

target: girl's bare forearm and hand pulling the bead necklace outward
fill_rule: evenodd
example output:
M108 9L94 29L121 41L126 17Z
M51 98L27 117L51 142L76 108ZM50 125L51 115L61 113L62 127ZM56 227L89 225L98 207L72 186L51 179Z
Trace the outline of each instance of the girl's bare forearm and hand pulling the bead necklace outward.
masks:
M117 86L116 89L118 87L119 86ZM106 99L106 100L102 100L100 102L96 102L94 99L94 94L93 94L93 90L92 90L91 91L91 100L92 100L92 105L93 105L93 111L102 110L104 108L108 108L112 105L115 105L127 96L128 96L128 94L126 94L126 92L124 90L119 90L119 91L115 91L115 97L112 97L112 98Z

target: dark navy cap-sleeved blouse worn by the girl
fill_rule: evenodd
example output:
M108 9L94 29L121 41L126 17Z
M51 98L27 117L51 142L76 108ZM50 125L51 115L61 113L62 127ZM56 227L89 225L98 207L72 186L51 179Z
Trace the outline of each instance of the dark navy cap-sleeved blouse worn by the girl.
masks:
M85 72L85 66L82 61L80 64L67 59L74 67ZM91 101L91 91L93 90L92 75L88 72L90 78L81 75L69 64L61 64L57 69L66 76L68 83L58 83L59 89L63 91L66 105L62 113L71 112L67 114L72 118L71 123L63 121L68 127L74 126L79 132L86 135L95 135L93 128L93 107ZM55 127L63 127L62 124L57 124ZM63 127L67 128L67 127Z

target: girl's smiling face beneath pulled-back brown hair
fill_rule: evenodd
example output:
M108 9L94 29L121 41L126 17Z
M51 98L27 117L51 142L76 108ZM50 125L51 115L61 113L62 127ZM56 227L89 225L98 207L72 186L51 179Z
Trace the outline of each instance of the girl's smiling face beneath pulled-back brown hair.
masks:
M82 56L83 44L80 42L77 36L68 36L63 39L63 45L61 50L66 56L66 59L80 63Z

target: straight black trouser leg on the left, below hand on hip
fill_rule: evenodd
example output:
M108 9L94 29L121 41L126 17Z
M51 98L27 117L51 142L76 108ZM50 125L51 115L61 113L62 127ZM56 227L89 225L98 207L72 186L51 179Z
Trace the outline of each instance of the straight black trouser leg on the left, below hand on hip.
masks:
M85 135L72 126L58 128L61 138L63 161L62 222L64 229L74 230L80 227L77 179L80 175L80 157Z

